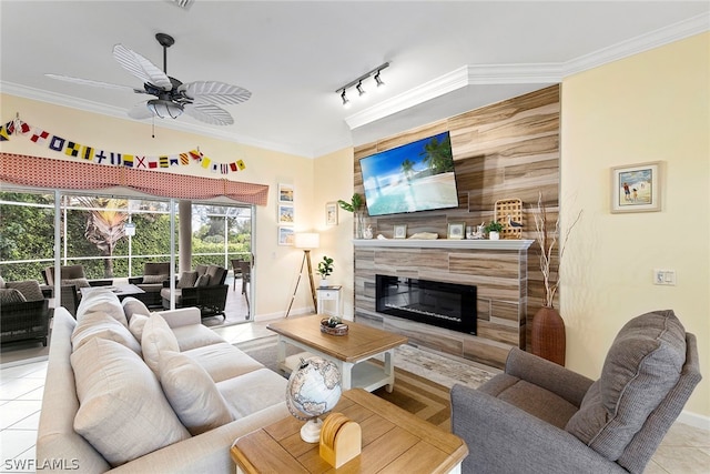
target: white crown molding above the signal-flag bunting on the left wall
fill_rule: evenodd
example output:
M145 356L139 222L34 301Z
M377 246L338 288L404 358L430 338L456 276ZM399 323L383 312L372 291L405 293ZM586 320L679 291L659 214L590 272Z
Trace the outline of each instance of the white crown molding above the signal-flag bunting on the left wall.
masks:
M105 104L93 102L85 99L77 99L70 95L50 93L40 89L28 88L26 85L16 84L12 82L0 81L0 92L7 93L10 95L22 97L26 99L37 100L40 102L52 103L54 105L68 107L70 109L77 109L84 112L92 112L92 113L98 113L102 115L109 115L120 120L146 123L145 121L133 120L129 118L125 113L125 109L122 109L122 108L105 105ZM186 133L194 133L197 135L214 138L217 140L224 140L229 142L262 148L265 150L272 150L272 151L277 151L277 152L287 153L287 154L295 154L304 158L314 158L314 151L311 149L306 150L306 149L303 149L302 147L294 147L294 145L284 144L284 143L258 140L253 137L247 137L247 135L235 133L235 132L214 129L213 127L201 124L201 123L187 123L179 120L169 121L169 120L161 119L160 124L158 127L163 129L186 132Z

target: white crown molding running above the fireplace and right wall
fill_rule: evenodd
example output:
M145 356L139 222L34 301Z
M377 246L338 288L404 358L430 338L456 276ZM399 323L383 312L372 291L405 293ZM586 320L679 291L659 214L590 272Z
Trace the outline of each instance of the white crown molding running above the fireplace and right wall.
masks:
M710 13L560 63L464 65L423 85L345 118L354 130L467 85L561 82L564 78L671 43L710 29Z

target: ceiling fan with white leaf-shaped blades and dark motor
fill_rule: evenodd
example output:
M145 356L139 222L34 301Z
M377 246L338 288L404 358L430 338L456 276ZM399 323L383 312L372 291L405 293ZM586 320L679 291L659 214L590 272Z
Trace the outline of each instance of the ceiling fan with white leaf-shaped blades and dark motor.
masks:
M231 125L234 119L226 110L216 104L233 104L248 100L252 93L239 85L231 85L216 81L195 81L182 83L168 75L168 48L175 40L165 33L155 34L155 39L163 47L163 70L141 54L125 48L123 44L113 47L113 59L131 74L143 81L143 89L130 85L112 84L109 82L93 81L90 79L71 78L61 74L44 74L60 81L73 82L83 85L94 85L106 89L131 90L140 94L154 95L146 102L136 104L129 110L129 117L136 120L151 117L176 119L183 112L193 119L212 125Z

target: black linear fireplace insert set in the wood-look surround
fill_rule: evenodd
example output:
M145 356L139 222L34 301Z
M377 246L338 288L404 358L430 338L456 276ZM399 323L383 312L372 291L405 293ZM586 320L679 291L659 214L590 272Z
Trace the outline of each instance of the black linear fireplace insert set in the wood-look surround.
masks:
M476 334L476 286L378 274L375 299L378 313Z

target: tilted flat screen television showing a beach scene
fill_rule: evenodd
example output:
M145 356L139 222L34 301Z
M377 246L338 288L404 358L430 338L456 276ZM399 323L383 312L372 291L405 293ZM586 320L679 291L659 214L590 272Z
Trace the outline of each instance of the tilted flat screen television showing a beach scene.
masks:
M448 132L359 160L369 215L458 206Z

